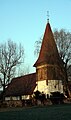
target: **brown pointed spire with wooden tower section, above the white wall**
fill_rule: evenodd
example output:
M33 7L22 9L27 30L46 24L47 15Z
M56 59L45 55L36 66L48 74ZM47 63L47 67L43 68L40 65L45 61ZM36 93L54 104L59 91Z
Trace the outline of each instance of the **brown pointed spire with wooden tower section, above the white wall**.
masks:
M34 64L37 80L64 79L63 62L59 56L50 23L46 25L39 57Z

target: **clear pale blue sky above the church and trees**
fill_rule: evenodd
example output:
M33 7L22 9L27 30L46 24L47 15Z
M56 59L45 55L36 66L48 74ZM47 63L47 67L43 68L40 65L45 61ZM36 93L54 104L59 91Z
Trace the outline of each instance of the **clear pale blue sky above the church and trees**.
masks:
M21 43L30 72L35 71L35 41L44 34L47 11L52 31L71 32L71 0L0 0L0 44L8 39Z

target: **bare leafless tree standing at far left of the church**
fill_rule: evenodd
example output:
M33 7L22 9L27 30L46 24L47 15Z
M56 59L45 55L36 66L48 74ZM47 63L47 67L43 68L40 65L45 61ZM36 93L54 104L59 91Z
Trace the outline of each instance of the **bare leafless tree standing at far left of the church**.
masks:
M23 62L23 56L24 49L21 44L18 46L9 40L0 45L0 85L3 87L3 91L14 77L17 65Z

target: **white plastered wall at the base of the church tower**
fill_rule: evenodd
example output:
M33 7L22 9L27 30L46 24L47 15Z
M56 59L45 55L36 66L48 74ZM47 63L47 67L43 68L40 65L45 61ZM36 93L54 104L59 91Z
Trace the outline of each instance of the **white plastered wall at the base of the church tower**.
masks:
M49 94L51 92L59 91L63 93L63 85L61 80L48 80L48 85L46 84L46 80L38 81L37 87L34 91L39 90L40 92L44 92L45 94Z

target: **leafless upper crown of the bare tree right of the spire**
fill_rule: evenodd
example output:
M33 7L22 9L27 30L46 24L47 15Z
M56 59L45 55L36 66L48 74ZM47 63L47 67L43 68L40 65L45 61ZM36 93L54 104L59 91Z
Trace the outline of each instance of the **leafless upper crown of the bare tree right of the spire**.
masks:
M71 64L71 33L64 29L54 31L55 41L58 47L60 57L67 68Z

